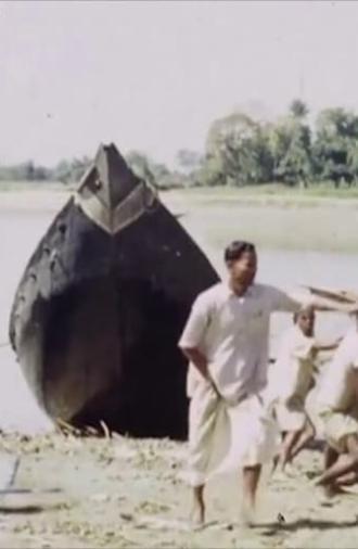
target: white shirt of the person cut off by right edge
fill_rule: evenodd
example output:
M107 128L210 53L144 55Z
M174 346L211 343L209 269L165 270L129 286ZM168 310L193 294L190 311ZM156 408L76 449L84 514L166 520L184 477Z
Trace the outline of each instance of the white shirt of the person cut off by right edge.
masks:
M316 395L318 410L347 412L358 406L353 376L358 372L358 331L348 330L327 367Z

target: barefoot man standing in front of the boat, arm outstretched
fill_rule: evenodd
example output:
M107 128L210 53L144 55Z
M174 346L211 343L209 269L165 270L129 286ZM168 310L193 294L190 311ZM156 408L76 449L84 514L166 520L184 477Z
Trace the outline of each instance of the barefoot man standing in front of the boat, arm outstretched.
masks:
M204 522L203 495L212 454L221 444L217 442L216 412L222 403L228 409L244 409L241 423L247 423L252 416L251 432L255 436L241 464L244 506L250 513L254 509L261 463L272 459L267 449L271 444L269 430L265 430L264 407L259 408L259 392L267 381L270 315L280 310L294 312L306 304L276 288L254 282L257 255L253 244L231 243L225 251L225 261L229 280L197 296L179 342L191 362L189 483L193 487L192 519L200 524ZM319 306L327 301L312 298L310 303ZM332 310L324 305L321 308ZM340 304L336 308L348 310ZM238 438L236 433L242 432L235 429L231 435ZM239 443L246 442L238 439L231 444L239 447Z

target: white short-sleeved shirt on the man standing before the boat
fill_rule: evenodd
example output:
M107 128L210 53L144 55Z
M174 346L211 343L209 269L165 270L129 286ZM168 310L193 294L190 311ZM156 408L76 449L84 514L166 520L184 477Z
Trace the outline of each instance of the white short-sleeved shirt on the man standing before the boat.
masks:
M201 293L179 341L181 348L199 348L220 394L236 401L266 385L270 314L296 311L303 301L276 288L252 284L236 296L226 282ZM202 381L190 365L188 395Z

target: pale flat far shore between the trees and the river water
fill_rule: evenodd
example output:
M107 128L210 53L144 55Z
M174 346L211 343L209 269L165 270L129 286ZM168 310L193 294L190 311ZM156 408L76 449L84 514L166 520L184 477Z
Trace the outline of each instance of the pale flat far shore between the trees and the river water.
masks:
M27 186L28 187L28 186ZM272 192L271 192L272 191ZM57 212L73 189L61 184L7 187L0 210ZM349 193L349 191L348 191ZM199 231L213 246L222 247L233 234L261 247L298 251L358 253L358 197L316 196L309 191L273 192L255 189L188 189L159 193L180 222Z

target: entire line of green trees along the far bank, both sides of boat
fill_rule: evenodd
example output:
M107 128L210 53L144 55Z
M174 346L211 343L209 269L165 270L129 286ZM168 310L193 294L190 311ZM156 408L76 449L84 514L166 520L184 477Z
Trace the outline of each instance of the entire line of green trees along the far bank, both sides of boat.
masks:
M180 150L178 169L132 151L131 168L158 188L188 186L243 187L282 182L308 187L330 181L336 188L358 183L358 115L342 107L322 110L307 122L308 107L296 99L285 116L267 123L233 112L208 128L204 154ZM74 183L91 158L62 161L53 168L26 162L0 165L0 180Z

